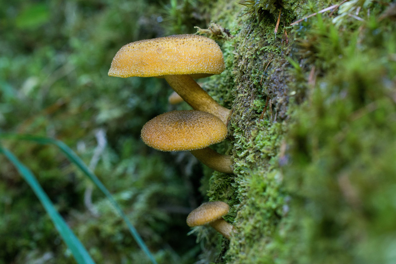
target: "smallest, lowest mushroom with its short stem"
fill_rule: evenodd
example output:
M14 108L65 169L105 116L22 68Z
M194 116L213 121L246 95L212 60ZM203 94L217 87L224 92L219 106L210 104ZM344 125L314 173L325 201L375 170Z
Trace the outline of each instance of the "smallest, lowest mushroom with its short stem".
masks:
M230 239L234 226L222 218L229 209L226 203L220 201L203 203L187 216L187 225L194 227L209 224L225 238Z

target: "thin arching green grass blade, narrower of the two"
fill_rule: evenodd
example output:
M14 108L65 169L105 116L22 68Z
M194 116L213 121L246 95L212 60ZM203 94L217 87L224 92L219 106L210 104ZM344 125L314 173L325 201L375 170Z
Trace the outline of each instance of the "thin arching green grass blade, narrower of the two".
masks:
M14 134L3 134L0 133L0 138L12 138L12 139L18 139L18 140L29 140L33 141L39 144L54 144L57 146L65 155L66 157L73 162L78 168L81 169L81 171L84 172L86 176L88 176L91 181L94 182L94 184L99 188L99 190L106 196L106 198L110 201L112 206L115 208L115 210L119 213L119 215L122 217L122 219L125 221L125 223L128 226L129 231L131 232L133 238L135 239L136 243L138 243L139 247L145 252L145 254L148 256L150 259L151 263L156 264L156 261L150 251L148 250L148 247L146 246L145 242L139 235L138 231L136 228L133 226L133 224L129 221L128 217L125 215L125 213L122 211L118 203L114 200L113 196L110 194L110 192L106 189L106 187L101 183L101 181L98 179L98 177L88 168L88 166L84 163L84 161L81 160L66 144L64 144L61 141L50 139L50 138L44 138L44 137L35 137L35 136L30 136L30 135L14 135Z

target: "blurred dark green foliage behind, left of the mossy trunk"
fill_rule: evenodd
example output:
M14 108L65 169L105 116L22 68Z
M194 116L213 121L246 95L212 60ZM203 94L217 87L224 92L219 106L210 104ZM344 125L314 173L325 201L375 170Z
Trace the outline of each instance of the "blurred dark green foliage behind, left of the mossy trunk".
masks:
M190 168L188 155L159 153L140 140L144 123L169 110L167 84L108 77L107 71L129 42L204 26L203 2L0 0L0 131L53 137L74 149L158 263L191 263L198 255L185 217L202 200L195 190L201 170ZM57 148L2 142L37 175L95 261L148 263L125 223L99 191L90 194L91 183ZM0 194L0 263L74 263L4 157Z

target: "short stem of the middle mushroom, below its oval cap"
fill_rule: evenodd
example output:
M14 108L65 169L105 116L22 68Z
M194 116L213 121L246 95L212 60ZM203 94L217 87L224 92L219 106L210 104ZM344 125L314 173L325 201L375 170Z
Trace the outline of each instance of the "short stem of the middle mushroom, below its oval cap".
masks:
M230 155L222 155L209 147L190 151L203 164L216 171L233 174L233 161Z

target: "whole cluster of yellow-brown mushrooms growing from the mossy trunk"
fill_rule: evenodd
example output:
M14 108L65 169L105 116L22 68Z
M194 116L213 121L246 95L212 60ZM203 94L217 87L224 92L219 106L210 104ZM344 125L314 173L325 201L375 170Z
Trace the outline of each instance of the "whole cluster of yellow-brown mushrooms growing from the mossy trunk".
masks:
M165 78L174 90L169 102L185 101L194 110L171 111L154 117L142 128L142 140L160 151L190 151L208 167L233 173L231 156L209 146L227 136L231 110L219 105L194 79L220 74L223 53L211 39L199 35L174 35L141 40L123 46L114 56L109 76ZM202 204L192 211L189 226L209 223L230 239L233 226L222 219L229 206L223 202Z

